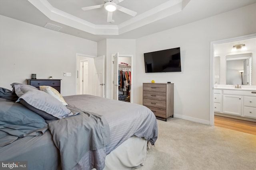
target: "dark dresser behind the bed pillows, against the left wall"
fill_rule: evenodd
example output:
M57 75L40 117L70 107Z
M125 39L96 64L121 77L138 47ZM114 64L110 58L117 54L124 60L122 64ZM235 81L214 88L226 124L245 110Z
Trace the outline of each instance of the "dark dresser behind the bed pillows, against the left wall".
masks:
M60 80L62 79L27 79L27 84L39 89L39 86L51 86L60 93Z

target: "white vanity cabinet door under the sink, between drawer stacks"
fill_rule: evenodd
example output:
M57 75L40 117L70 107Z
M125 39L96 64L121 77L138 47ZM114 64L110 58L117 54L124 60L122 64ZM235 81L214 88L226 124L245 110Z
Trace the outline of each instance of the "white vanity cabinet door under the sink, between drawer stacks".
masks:
M223 113L242 115L242 96L223 95Z

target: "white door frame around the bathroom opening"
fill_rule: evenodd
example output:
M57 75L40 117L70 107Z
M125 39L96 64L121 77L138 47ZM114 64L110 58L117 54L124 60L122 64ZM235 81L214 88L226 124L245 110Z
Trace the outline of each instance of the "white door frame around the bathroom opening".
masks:
M214 125L214 45L256 37L256 33L210 42L210 125Z

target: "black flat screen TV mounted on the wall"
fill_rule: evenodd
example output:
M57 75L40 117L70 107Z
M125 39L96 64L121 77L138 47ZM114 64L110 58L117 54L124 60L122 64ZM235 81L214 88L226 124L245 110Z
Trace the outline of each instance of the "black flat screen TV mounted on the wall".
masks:
M181 72L180 47L144 53L146 72Z

